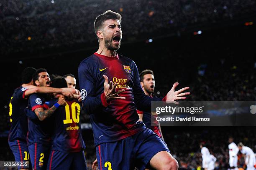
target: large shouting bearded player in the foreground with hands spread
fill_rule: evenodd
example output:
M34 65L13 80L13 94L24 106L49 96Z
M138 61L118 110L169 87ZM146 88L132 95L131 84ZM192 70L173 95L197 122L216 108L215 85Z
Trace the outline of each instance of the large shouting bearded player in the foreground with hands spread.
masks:
M129 170L136 166L143 170L150 165L157 170L177 170L177 160L159 136L138 122L136 107L150 111L151 101L186 99L180 93L189 87L176 92L178 83L174 83L163 99L145 95L136 64L116 52L122 39L120 22L121 15L111 10L96 18L99 49L78 68L83 108L90 114L99 169ZM135 161L140 163L135 165Z

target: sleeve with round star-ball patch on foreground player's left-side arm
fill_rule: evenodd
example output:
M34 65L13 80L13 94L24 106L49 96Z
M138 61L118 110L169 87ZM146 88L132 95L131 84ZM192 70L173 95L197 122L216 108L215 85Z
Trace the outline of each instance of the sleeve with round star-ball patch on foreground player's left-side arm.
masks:
M95 71L95 70L94 70ZM88 114L94 113L103 106L107 106L104 92L95 95L95 76L93 69L86 62L81 62L78 67L78 79L81 91L81 98L85 112Z

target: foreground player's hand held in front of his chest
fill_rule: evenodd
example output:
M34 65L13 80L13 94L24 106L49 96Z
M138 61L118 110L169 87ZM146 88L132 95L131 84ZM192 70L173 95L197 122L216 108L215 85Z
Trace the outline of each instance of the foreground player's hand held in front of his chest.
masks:
M113 83L112 81L110 81L110 83L108 84L108 77L105 75L103 75L103 77L105 78L104 94L107 102L110 102L111 100L114 100L114 99L125 99L125 97L121 97L118 95L119 93L123 92L124 89L118 90L117 92L115 92L115 87L117 83Z

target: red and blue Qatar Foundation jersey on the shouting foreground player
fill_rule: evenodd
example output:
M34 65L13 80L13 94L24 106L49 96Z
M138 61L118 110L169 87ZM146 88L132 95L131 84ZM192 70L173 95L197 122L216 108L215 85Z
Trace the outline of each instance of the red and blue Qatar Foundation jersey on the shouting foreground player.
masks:
M125 97L124 100L107 103L103 75L118 84L115 91L125 89L119 94ZM83 109L90 114L95 145L118 141L142 131L145 125L138 122L136 107L150 112L151 101L161 100L145 95L135 62L122 55L107 57L94 53L80 63L78 78Z

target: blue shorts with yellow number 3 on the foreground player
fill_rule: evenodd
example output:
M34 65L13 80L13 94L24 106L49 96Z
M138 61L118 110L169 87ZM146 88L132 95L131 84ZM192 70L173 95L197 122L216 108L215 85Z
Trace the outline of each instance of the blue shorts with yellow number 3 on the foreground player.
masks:
M125 139L101 143L96 147L100 170L144 170L151 158L168 148L152 130L146 128Z

